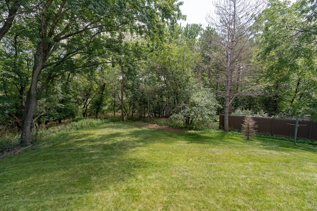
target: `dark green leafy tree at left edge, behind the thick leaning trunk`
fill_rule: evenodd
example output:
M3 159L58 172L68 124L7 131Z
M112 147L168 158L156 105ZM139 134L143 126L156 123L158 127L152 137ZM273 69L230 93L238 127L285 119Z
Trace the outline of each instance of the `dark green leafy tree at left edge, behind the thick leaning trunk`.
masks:
M22 129L22 113L32 67L31 45L13 29L0 43L0 113L13 119ZM0 116L1 116L0 114Z

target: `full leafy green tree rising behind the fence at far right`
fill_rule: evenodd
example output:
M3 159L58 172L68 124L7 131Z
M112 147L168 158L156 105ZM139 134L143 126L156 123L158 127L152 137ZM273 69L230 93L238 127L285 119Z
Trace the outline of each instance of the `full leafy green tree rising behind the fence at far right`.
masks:
M266 84L261 97L271 115L317 116L316 2L270 0L259 15L258 59ZM307 113L305 113L307 112Z

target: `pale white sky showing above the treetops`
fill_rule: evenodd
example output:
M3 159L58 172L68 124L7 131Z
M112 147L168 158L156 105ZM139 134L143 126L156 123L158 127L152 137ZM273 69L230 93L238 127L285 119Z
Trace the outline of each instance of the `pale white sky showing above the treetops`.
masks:
M180 21L182 26L187 23L201 23L203 27L208 26L206 16L214 12L214 6L212 2L214 0L179 0L183 1L184 4L180 7L182 13L187 15L186 21ZM291 0L295 2L295 0Z

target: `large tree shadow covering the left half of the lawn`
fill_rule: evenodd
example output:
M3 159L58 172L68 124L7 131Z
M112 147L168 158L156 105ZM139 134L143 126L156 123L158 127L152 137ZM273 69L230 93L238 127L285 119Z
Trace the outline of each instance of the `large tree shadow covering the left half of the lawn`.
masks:
M130 178L138 168L151 165L126 156L143 144L141 138L130 138L138 133L140 130L124 124L60 133L47 145L1 160L1 207L28 210L34 204L26 202L32 201L40 209L41 202L56 198L67 204L74 196L109 189Z

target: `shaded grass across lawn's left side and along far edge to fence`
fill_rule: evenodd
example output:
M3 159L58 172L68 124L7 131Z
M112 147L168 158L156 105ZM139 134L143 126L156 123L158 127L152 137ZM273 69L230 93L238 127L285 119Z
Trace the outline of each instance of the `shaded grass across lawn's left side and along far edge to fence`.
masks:
M232 141L234 140L234 141ZM210 145L241 145L240 136L214 133L170 133L128 123L107 124L90 130L59 133L39 148L1 160L0 204L4 210L62 209L78 203L85 194L111 190L134 177L140 169L158 163L130 156L149 144L185 142ZM267 141L267 142L266 142ZM274 151L294 150L289 143L257 139ZM316 151L315 151L316 152ZM45 203L44 203L45 202ZM57 210L58 210L57 209Z

